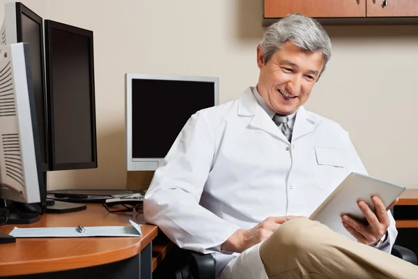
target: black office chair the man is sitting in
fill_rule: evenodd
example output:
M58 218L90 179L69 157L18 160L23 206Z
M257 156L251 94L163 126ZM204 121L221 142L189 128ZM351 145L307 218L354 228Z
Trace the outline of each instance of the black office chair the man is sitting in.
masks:
M394 209L391 209L392 216ZM181 250L183 261L176 269L176 279L215 279L215 259L210 254ZM417 265L417 255L411 250L394 245L392 255Z

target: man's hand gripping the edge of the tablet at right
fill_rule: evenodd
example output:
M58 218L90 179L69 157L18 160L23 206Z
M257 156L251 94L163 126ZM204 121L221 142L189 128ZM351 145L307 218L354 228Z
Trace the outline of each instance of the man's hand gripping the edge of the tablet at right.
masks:
M359 208L364 213L367 222L369 225L365 225L349 216L342 216L343 225L346 227L347 231L352 234L357 242L364 243L366 245L373 245L378 243L378 241L386 234L387 228L390 225L389 216L387 211L392 209L395 204L398 203L398 198L386 209L383 202L376 196L371 198L376 213L374 213L366 202L358 202Z

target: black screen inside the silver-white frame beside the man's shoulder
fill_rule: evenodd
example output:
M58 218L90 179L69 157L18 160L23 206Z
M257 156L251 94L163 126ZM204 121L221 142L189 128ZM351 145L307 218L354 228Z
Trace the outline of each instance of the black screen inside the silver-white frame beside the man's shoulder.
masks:
M215 105L215 83L132 80L132 157L164 158L187 119Z

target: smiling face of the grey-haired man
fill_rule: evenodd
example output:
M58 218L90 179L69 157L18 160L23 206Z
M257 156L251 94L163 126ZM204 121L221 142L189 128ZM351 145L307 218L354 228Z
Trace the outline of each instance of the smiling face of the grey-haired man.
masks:
M274 112L291 114L308 100L323 62L321 52L307 52L286 42L264 64L264 55L258 45L260 77L257 90Z

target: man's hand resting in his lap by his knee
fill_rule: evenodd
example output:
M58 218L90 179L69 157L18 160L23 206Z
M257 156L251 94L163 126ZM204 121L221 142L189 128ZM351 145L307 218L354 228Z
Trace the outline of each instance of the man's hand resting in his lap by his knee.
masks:
M281 224L293 218L303 216L269 217L251 229L238 229L229 239L222 243L221 249L231 252L242 252L268 239Z

